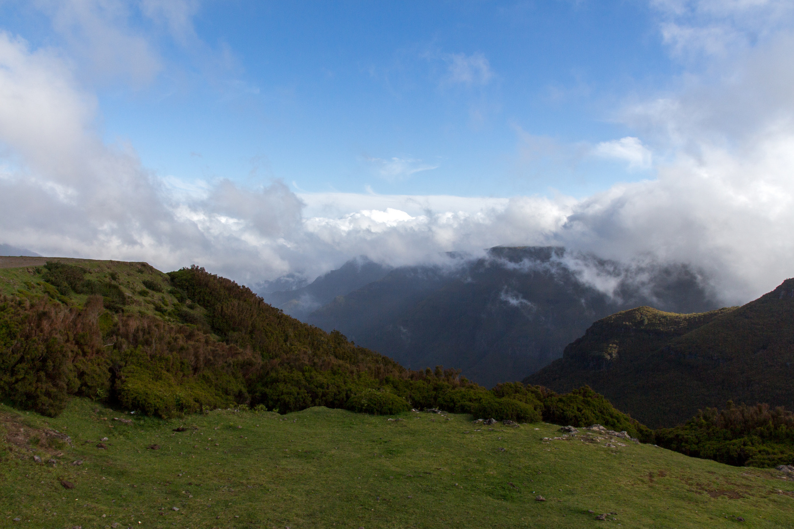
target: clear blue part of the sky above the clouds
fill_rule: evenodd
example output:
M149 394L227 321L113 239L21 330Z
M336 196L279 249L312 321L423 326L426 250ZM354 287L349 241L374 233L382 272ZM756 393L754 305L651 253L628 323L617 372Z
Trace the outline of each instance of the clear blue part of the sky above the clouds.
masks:
M128 10L158 71L96 79L89 65L83 82L107 141L188 181L582 197L649 177L587 151L636 134L616 109L676 71L643 2L205 2L187 36ZM40 10L5 11L33 45L75 38ZM580 154L530 156L524 136Z

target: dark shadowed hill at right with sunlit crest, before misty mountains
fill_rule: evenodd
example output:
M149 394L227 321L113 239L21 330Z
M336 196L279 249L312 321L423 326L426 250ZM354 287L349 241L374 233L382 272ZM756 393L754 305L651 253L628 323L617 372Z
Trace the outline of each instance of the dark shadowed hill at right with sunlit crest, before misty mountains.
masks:
M525 379L565 392L590 385L651 427L727 401L794 401L794 279L747 305L702 314L642 307L599 320L563 358Z

